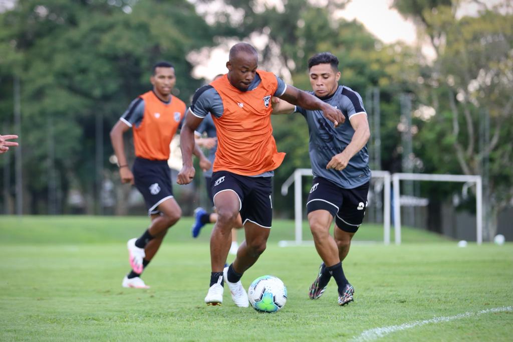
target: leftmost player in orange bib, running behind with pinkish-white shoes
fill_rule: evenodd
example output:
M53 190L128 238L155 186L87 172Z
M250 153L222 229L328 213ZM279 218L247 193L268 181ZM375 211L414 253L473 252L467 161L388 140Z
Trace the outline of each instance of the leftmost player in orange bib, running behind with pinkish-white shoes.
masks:
M132 270L123 279L125 288L149 288L141 279L141 273L159 250L169 227L182 216L182 210L173 198L167 160L169 144L185 116L186 106L171 94L176 83L172 64L155 64L150 82L153 89L133 100L110 132L121 181L135 184L144 197L151 218L150 226L141 237L128 240ZM132 171L123 142L123 134L130 128L136 156ZM198 147L194 148L194 154L200 158L202 168L210 167L210 162Z

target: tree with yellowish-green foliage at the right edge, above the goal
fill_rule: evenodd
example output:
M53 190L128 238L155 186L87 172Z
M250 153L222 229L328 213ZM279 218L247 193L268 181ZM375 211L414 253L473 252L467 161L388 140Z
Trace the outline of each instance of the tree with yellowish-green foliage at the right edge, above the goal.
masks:
M511 1L490 8L477 2L477 16L458 17L460 2L413 3L418 6L407 1L394 1L394 6L417 18L437 52L418 92L437 115L419 138L452 151L429 154L440 170L485 177L490 206L485 233L491 239L498 213L513 199L513 6Z

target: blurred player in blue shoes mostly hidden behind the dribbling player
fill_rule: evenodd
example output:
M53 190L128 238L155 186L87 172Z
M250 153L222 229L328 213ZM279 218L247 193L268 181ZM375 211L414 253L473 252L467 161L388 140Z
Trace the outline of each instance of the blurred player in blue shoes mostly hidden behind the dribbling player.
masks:
M223 74L216 75L213 81L223 77ZM212 120L212 115L208 113L205 119L201 122L200 126L196 129L195 140L196 144L200 147L205 148L207 152L207 158L210 160L212 165L215 160L215 151L218 149L218 133L215 130L215 124ZM202 138L202 135L206 134L206 138ZM214 205L214 200L212 197L212 167L203 172L203 176L205 177L205 185L207 188L208 198L212 205ZM201 229L207 223L215 223L218 220L218 214L215 212L209 213L204 208L198 207L194 210L194 223L192 224L192 237L196 238L200 235ZM242 219L239 215L236 222L236 227L231 230L231 246L229 253L232 255L237 254L237 250L239 249L239 245L237 243L237 229L242 228Z

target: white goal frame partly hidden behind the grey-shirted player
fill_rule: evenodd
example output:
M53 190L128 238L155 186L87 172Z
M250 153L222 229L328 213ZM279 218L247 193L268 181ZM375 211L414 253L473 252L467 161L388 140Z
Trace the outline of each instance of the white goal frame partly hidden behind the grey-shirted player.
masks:
M313 176L310 168L297 168L294 173L282 185L282 195L288 194L288 188L294 183L294 234L295 240L285 241L282 240L278 244L282 247L285 246L301 246L312 245L313 241L303 240L303 176ZM383 178L384 182L384 195L383 195L383 242L390 244L390 173L388 171L371 170L371 177ZM397 236L397 234L396 234ZM396 238L397 241L397 238Z

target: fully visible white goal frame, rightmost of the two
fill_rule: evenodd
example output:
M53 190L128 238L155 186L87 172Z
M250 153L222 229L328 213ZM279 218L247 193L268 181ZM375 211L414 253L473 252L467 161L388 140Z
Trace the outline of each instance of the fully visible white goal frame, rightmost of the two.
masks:
M476 239L477 244L483 243L483 185L481 176L397 173L392 175L393 221L396 244L401 244L401 180L476 183Z

